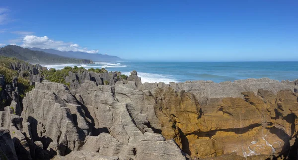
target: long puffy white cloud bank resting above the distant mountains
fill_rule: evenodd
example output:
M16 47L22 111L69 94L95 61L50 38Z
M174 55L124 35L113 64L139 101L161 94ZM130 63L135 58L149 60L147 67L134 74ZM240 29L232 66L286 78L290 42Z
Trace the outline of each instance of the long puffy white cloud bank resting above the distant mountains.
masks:
M24 48L37 47L41 49L56 49L59 51L75 51L85 53L98 53L98 50L88 50L87 48L81 48L78 44L66 43L63 41L54 41L49 37L38 37L34 35L27 35L23 38L23 44L20 45Z

